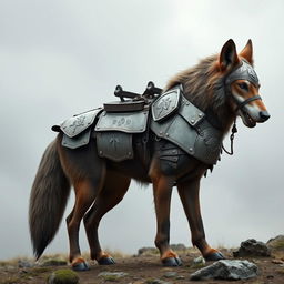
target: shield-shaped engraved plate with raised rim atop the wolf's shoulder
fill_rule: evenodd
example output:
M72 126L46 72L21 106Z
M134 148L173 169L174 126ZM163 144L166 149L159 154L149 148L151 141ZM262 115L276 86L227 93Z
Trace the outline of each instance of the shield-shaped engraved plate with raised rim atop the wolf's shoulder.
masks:
M168 118L179 108L180 88L171 89L161 94L152 104L152 116L154 121L161 121Z

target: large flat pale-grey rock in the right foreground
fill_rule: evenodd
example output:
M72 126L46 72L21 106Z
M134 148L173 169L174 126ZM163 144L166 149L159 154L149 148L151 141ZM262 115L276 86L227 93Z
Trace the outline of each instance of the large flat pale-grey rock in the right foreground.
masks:
M190 280L248 280L257 276L257 266L248 261L222 260L191 274Z

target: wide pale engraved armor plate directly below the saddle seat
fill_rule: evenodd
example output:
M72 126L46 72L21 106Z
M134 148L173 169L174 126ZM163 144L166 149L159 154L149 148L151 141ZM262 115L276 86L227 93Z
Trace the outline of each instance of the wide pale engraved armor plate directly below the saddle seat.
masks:
M95 125L95 131L122 131L142 133L146 129L149 111L140 112L102 112Z

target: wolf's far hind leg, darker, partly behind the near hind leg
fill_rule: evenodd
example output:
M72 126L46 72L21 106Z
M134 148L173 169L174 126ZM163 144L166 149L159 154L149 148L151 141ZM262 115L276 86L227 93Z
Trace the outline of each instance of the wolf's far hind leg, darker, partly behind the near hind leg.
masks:
M101 265L114 264L111 255L100 246L98 229L105 213L118 205L126 193L131 179L113 171L108 171L103 189L97 196L93 206L84 216L84 227L91 248L91 260Z

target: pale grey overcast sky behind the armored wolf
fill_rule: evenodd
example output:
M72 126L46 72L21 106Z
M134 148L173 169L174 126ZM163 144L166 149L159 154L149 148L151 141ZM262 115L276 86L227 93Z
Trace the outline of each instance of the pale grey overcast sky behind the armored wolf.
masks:
M31 256L30 187L51 125L113 101L113 90L142 92L220 52L232 38L241 50L253 40L255 70L271 120L255 129L239 120L234 156L202 181L207 241L236 246L284 233L283 51L284 2L190 0L0 1L0 260ZM226 139L227 144L227 139ZM227 144L229 145L229 144ZM139 202L138 202L139 201ZM73 205L71 196L64 217ZM151 187L132 183L102 221L103 247L135 253L153 245ZM88 251L81 230L81 248ZM190 245L174 192L171 242ZM47 253L68 253L62 222Z

